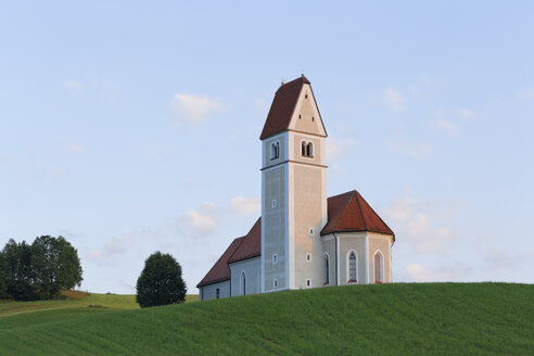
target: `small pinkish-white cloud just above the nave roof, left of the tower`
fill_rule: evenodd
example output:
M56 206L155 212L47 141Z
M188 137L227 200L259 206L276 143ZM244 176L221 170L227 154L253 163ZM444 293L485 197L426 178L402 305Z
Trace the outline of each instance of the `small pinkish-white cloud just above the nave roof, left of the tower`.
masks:
M198 209L190 209L178 217L180 230L186 233L206 236L219 225L218 209L214 203L205 203Z

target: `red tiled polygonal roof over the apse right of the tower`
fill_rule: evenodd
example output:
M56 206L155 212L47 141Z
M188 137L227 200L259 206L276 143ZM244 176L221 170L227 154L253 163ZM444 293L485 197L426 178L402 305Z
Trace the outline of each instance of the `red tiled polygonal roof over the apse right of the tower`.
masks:
M392 234L393 231L355 190L328 199L328 223L321 234L348 231L371 231Z

